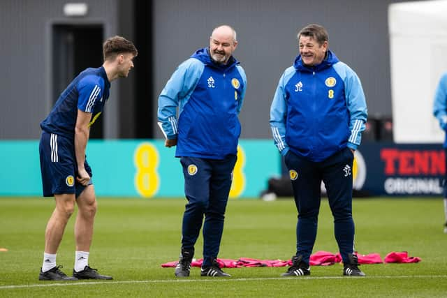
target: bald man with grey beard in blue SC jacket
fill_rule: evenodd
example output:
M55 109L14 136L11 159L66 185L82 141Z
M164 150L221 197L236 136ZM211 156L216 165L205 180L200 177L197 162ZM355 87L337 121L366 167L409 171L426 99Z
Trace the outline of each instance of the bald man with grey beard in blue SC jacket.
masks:
M159 125L166 147L177 146L175 156L182 163L188 200L177 277L189 276L203 216L200 275L230 276L216 259L241 131L237 115L247 87L244 70L232 56L236 46L235 30L217 27L210 46L180 64L159 96Z

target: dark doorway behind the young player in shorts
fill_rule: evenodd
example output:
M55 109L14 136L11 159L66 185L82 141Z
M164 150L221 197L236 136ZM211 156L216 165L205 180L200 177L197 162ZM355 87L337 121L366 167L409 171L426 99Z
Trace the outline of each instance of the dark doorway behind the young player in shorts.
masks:
M52 26L52 100L82 70L103 64L103 26L101 24L54 24ZM91 139L104 135L103 113L90 129Z

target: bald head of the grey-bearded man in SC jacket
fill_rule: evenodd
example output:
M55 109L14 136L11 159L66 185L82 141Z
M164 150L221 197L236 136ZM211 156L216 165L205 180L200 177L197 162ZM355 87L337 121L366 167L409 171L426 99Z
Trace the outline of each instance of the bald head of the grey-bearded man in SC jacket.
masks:
M237 46L236 31L228 25L216 27L210 37L210 54L219 64L227 64Z

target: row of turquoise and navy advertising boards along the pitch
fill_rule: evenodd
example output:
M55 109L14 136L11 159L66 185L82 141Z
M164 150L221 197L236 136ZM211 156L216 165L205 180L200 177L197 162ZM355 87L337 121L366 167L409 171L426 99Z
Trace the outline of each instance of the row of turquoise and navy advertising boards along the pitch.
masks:
M163 140L90 140L87 161L98 196L178 198L184 179ZM38 141L0 141L0 195L41 195ZM272 140L240 140L230 198L258 198L281 175ZM286 172L286 171L285 171ZM365 142L353 163L354 195L442 195L441 144Z

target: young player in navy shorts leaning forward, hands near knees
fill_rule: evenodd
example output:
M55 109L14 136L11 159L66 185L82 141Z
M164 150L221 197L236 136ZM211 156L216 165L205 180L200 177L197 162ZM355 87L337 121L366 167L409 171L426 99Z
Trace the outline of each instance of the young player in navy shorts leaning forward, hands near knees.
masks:
M96 214L96 195L85 148L89 129L103 111L109 98L110 82L127 77L138 51L121 36L105 40L104 63L87 68L68 85L41 122L39 144L43 196L52 197L56 207L45 230L45 251L39 274L41 281L112 279L89 267L89 251ZM75 266L73 277L57 266L56 253L68 219L78 204L75 221Z

